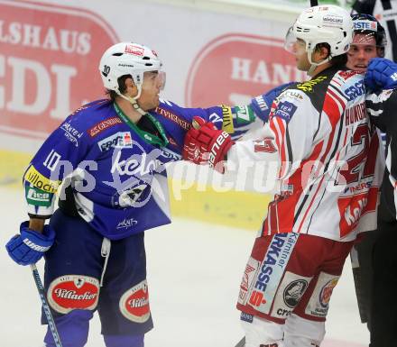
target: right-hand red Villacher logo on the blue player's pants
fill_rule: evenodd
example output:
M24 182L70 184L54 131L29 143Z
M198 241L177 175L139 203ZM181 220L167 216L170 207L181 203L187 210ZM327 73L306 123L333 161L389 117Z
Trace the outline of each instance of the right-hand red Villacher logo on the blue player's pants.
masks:
M132 322L144 323L149 319L151 309L146 279L123 294L119 307L122 315Z

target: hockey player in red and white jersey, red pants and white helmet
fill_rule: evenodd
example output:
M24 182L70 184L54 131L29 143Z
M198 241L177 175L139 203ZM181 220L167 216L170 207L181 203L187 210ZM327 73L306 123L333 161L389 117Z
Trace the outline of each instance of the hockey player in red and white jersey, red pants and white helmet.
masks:
M319 346L346 256L357 233L375 227L380 142L365 112L363 75L345 68L352 35L340 7L303 11L286 48L311 79L273 101L261 137L233 142L196 119L185 138L185 159L220 171L225 158L226 169L279 163L279 190L240 286L245 347Z

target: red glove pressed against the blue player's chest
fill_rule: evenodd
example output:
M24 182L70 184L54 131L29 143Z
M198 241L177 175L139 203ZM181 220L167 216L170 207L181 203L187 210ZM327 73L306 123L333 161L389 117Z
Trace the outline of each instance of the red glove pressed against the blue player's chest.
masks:
M192 125L185 136L183 159L195 164L208 164L223 173L223 160L235 142L227 132L218 130L213 123L206 123L201 117L193 117Z

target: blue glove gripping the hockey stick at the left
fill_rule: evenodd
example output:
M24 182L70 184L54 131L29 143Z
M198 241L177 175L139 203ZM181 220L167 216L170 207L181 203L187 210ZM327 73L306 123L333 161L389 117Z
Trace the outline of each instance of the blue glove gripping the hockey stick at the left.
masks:
M15 235L5 248L8 255L19 265L34 264L48 251L55 239L55 232L50 225L44 225L42 233L28 227L29 222L23 222L19 235Z

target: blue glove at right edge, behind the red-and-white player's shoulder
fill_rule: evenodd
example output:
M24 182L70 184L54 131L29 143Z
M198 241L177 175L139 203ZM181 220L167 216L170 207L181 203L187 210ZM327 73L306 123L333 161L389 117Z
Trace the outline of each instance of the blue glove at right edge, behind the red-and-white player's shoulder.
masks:
M397 87L397 64L389 59L372 59L365 73L365 87L372 91Z

